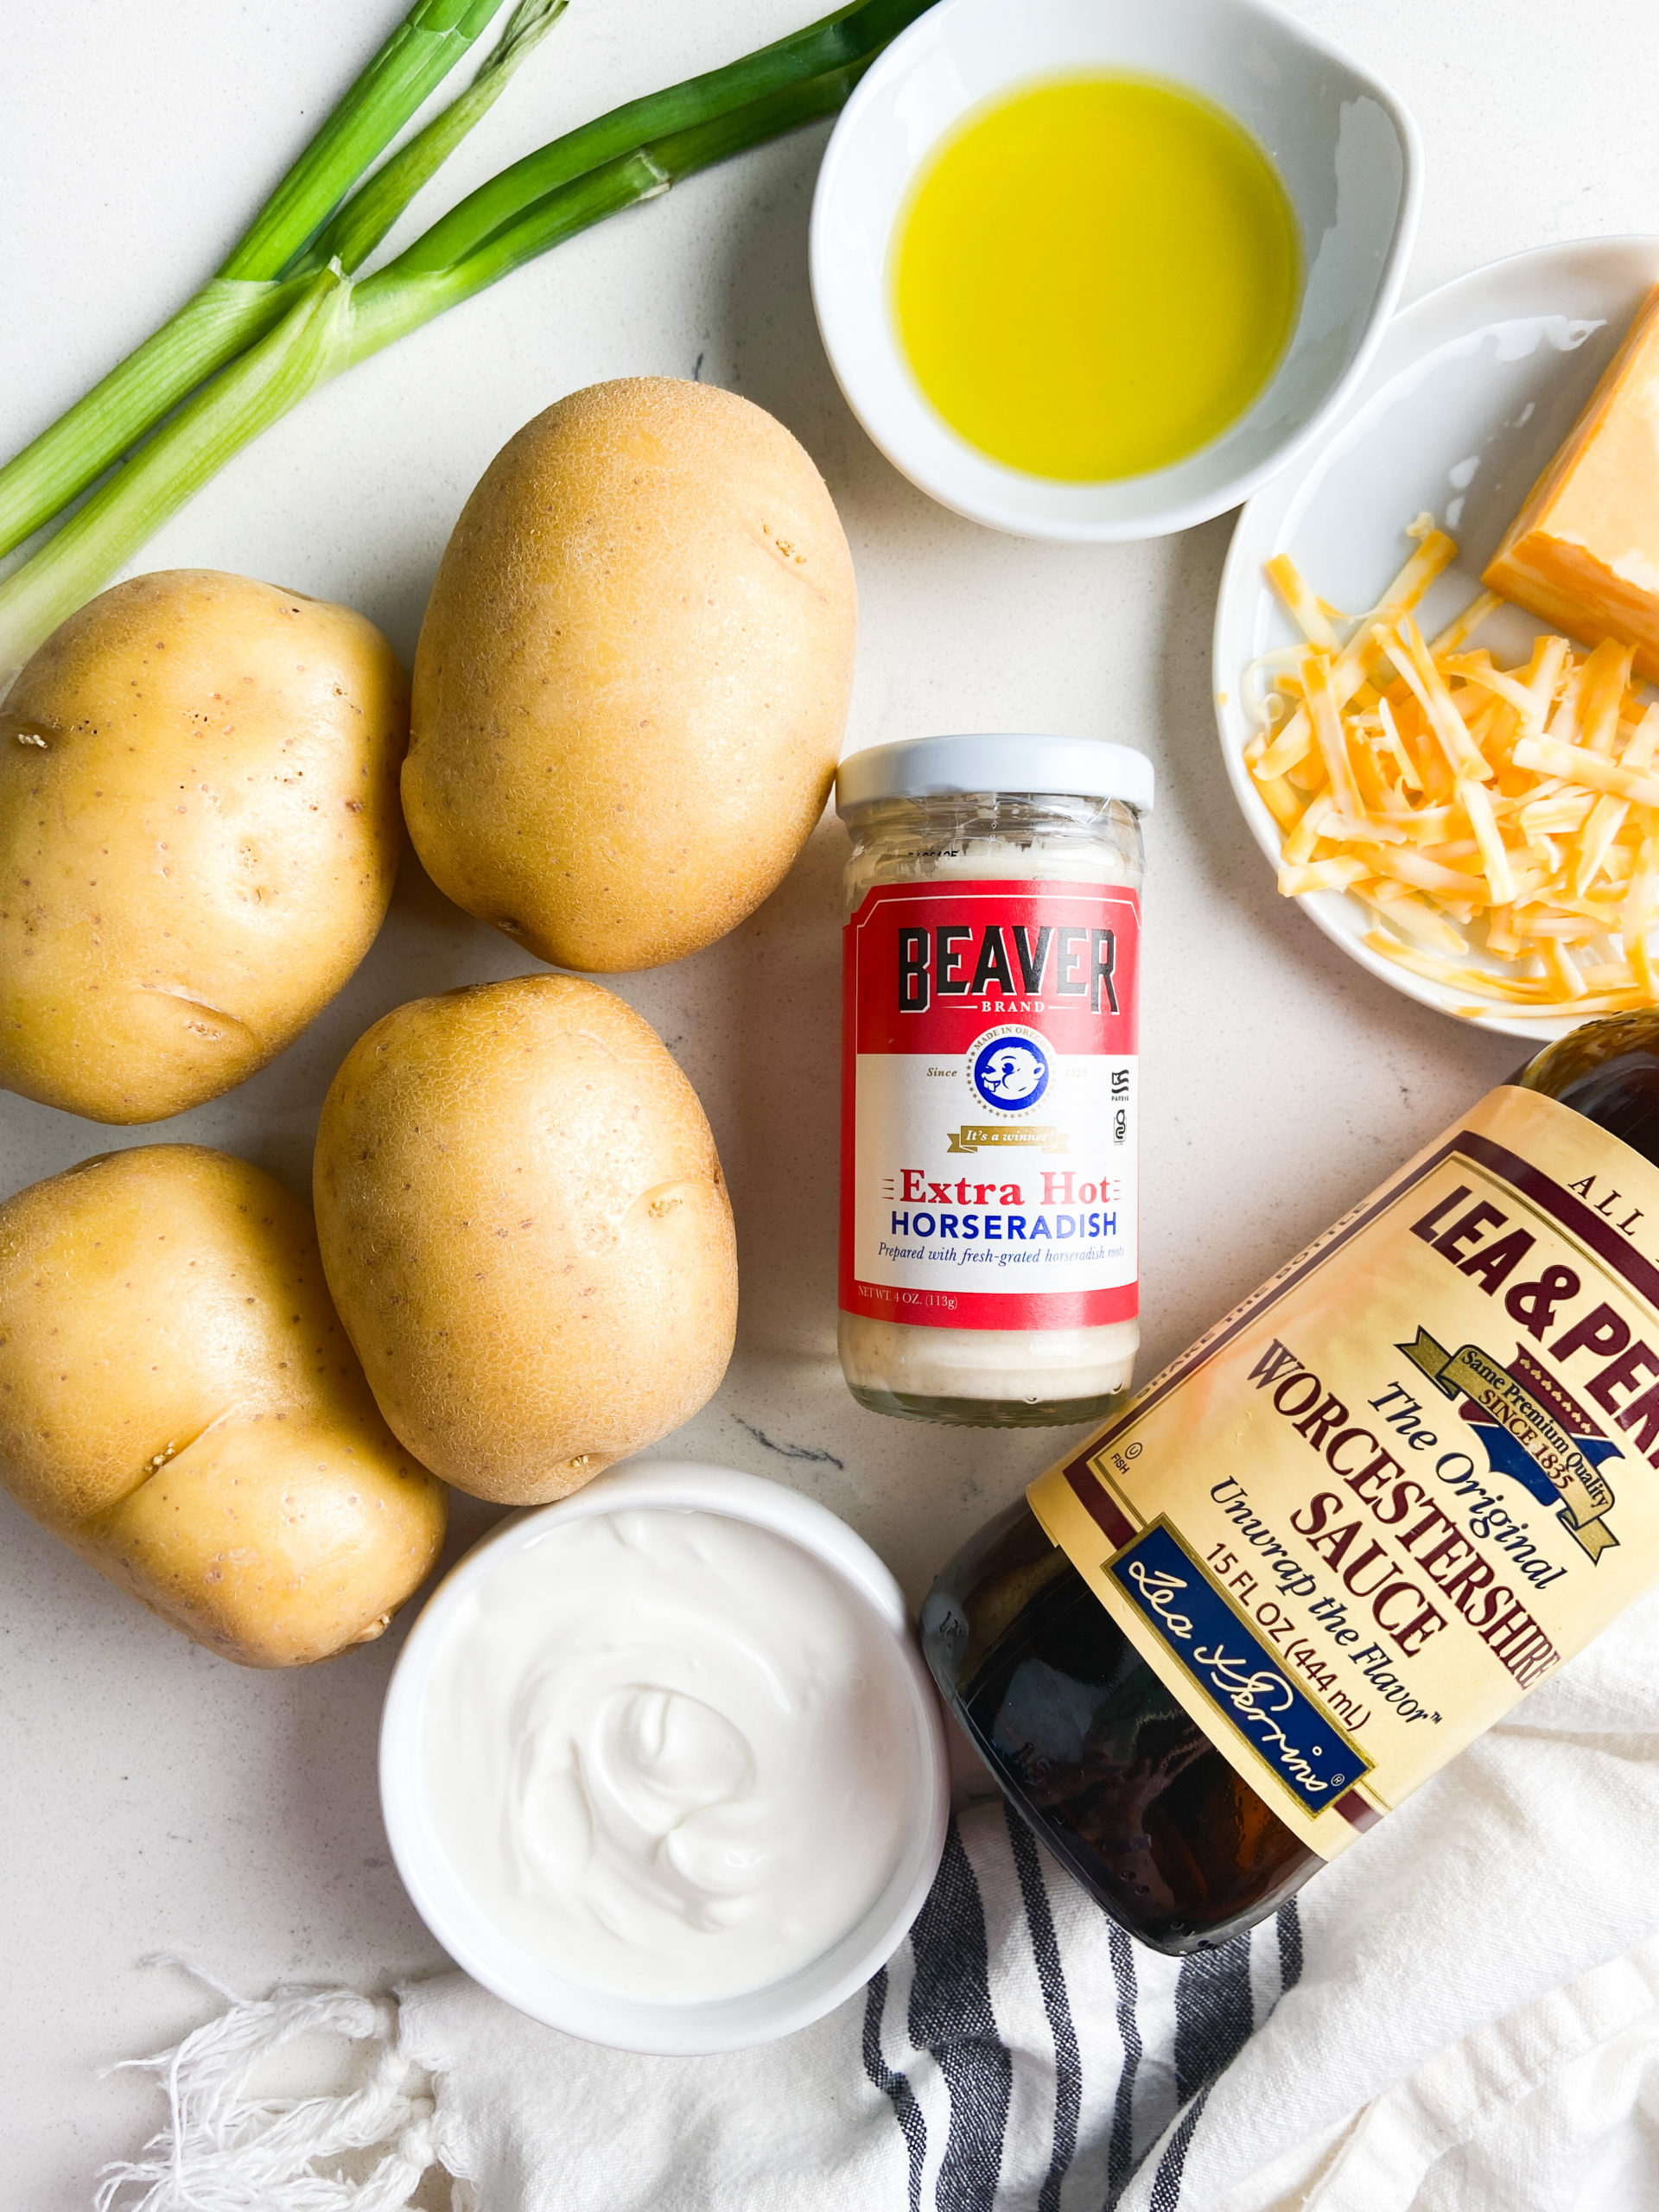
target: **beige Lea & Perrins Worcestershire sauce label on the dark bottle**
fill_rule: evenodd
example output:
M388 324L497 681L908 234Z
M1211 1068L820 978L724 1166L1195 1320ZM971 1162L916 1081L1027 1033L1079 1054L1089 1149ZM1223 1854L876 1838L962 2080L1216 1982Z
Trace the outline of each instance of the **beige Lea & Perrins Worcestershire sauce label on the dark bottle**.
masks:
M1648 1252L1659 1168L1493 1091L1031 1484L1325 1858L1659 1579Z

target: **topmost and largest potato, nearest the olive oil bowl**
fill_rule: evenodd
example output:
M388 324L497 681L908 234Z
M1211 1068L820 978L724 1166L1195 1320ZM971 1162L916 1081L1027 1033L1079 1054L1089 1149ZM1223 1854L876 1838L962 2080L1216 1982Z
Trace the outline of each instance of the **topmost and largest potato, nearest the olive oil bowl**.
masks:
M856 595L770 414L593 385L484 471L420 628L403 770L440 891L557 967L655 967L776 889L823 814Z

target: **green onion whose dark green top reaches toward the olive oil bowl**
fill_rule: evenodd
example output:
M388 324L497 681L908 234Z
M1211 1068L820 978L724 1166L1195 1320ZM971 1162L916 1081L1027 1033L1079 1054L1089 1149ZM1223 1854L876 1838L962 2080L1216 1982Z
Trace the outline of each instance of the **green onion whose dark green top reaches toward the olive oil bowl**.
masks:
M0 681L307 392L580 230L836 113L880 49L927 4L856 0L726 69L613 108L482 184L385 268L354 276L449 150L434 139L418 153L416 137L356 201L321 230L312 226L305 246L294 248L276 279L290 288L279 321L252 334L0 584ZM447 115L427 128L440 133ZM398 164L405 168L394 175Z

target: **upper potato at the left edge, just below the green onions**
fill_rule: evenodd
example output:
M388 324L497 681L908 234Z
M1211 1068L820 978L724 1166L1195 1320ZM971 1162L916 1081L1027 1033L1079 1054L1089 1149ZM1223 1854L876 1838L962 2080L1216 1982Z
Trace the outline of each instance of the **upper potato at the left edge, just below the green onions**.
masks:
M263 1068L385 918L405 739L345 606L173 568L71 615L0 712L0 1086L159 1121Z

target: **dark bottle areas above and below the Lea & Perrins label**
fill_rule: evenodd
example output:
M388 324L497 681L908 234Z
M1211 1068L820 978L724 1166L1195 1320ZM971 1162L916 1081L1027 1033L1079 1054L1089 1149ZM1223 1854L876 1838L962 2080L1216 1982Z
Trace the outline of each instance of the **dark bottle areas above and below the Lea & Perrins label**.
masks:
M1590 1022L1513 1079L1659 1166L1659 1013ZM1013 1805L1155 1949L1221 1944L1323 1865L1188 1719L1024 1500L933 1584L922 1650Z

